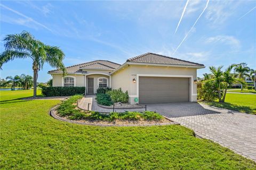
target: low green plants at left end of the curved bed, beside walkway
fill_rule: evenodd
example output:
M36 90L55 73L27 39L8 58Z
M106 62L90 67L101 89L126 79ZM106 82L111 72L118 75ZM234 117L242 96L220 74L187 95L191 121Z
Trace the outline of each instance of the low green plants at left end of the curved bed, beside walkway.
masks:
M76 106L73 104L76 103L76 101L82 97L83 96L81 95L76 95L70 97L66 101L63 101L62 104L60 104L60 106L57 108L57 111L60 114L60 116L70 116L78 113L79 111L75 109Z

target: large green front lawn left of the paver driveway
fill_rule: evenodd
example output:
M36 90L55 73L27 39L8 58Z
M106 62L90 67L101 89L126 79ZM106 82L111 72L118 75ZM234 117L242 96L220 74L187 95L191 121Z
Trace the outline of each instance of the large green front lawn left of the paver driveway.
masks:
M98 127L48 115L59 100L1 91L1 169L256 169L256 163L180 126Z

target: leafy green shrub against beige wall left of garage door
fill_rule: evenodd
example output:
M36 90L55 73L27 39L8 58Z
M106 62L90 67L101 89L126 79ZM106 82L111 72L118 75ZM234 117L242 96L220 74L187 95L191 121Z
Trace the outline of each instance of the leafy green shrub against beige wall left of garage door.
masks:
M123 92L121 88L107 91L106 94L109 94L112 101L114 101L115 103L127 103L129 100L128 91Z

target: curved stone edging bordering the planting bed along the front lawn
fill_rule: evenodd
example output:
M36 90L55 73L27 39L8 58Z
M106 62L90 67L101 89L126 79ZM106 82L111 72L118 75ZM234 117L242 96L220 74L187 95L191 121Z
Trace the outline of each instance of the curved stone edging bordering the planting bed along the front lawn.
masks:
M58 105L57 105L58 106ZM75 123L75 124L83 124L83 125L91 125L91 126L163 126L163 125L180 125L180 123L173 122L170 118L165 117L167 120L172 121L170 123L150 123L150 124L101 124L101 123L85 123L85 122L77 122L77 121L72 121L72 120L67 120L66 118L60 117L55 114L55 108L57 106L54 106L50 109L49 115L52 116L53 118L64 121L64 122L69 122L69 123Z

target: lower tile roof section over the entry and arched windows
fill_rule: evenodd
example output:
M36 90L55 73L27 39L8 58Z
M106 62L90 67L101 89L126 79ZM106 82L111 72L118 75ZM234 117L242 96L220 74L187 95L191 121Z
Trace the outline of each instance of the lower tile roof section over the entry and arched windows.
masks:
M119 67L120 64L113 63L110 61L106 60L97 60L97 61L92 61L88 63L82 63L82 64L77 64L73 66L66 67L67 73L86 73L81 70L81 68L85 69L107 69L110 71L115 70L117 67ZM62 73L61 70L51 70L49 73Z

